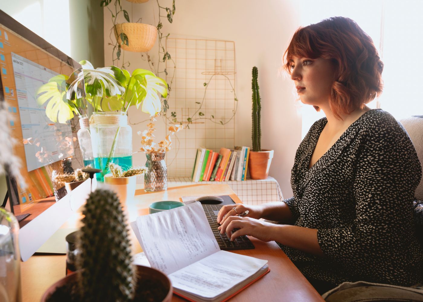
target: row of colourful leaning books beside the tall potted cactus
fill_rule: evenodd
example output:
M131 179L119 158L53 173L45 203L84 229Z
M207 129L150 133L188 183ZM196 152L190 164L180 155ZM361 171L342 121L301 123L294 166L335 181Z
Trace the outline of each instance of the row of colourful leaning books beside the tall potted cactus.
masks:
M250 147L235 147L233 150L220 148L214 152L198 148L195 165L192 169L192 181L228 181L245 180L247 177Z

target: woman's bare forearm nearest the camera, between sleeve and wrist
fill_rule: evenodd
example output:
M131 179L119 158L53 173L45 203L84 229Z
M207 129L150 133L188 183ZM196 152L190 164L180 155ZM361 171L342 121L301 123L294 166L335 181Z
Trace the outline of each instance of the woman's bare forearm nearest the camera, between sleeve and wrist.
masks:
M295 225L274 225L271 228L273 240L306 253L324 256L317 240L317 229Z

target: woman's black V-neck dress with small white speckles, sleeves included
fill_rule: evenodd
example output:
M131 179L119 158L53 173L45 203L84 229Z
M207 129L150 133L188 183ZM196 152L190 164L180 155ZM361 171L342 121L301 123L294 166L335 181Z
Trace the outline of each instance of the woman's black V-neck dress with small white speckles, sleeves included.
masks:
M299 145L294 197L284 200L294 225L318 229L325 257L281 248L317 280L422 283L423 252L412 213L422 171L407 133L389 113L369 110L309 169L326 123L316 121Z

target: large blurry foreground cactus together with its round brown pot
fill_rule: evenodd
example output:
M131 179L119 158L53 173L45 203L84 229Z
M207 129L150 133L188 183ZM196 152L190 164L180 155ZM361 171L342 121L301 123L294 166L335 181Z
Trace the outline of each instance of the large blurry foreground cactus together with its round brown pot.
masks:
M92 192L82 214L77 243L80 270L48 288L42 301L172 299L172 286L166 275L146 266L132 265L128 228L115 193L105 189Z

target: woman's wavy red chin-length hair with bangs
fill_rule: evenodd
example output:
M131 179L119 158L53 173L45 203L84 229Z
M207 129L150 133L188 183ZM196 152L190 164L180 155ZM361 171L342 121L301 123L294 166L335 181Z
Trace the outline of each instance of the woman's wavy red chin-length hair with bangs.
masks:
M284 53L284 68L289 74L289 60L294 56L332 61L336 74L329 105L337 118L357 108L363 109L382 93L383 63L370 36L352 19L332 17L300 27Z

